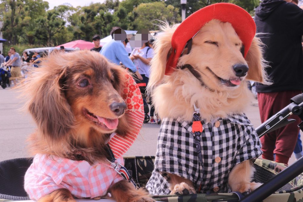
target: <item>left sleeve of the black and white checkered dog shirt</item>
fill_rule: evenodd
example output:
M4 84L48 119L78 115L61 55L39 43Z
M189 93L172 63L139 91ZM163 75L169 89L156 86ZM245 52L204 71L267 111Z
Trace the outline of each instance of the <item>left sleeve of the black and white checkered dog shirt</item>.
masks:
M199 171L194 162L198 162L198 154L190 138L191 134L179 122L163 119L158 136L155 172L176 174L196 183ZM184 164L187 166L184 167Z

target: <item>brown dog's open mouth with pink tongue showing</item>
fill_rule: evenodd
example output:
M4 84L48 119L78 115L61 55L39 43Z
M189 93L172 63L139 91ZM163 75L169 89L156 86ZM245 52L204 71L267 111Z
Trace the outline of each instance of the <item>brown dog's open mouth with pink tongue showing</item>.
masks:
M97 116L91 112L89 112L86 108L83 108L82 113L88 120L94 121L99 127L102 127L105 130L112 131L113 129L117 128L119 120L109 119Z

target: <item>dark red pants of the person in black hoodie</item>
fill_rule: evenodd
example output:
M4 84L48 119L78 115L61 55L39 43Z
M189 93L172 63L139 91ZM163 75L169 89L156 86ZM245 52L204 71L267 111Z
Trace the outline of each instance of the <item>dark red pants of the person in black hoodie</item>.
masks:
M290 99L300 93L302 91L258 93L261 122L265 122L275 113L285 108L290 104ZM273 154L275 153L276 162L288 164L288 160L297 142L299 133L298 124L301 122L300 118L296 115L291 115L288 118L293 118L296 121L275 131L271 131L260 138L263 159L274 161Z

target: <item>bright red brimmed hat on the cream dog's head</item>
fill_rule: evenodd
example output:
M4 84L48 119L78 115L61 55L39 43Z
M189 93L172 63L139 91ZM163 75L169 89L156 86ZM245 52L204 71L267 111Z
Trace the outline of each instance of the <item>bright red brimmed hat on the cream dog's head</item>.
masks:
M173 51L166 63L165 75L169 75L176 68L187 41L193 38L205 23L213 19L231 23L244 45L244 57L246 56L256 34L254 19L243 8L235 4L216 3L194 12L175 30L171 38Z

